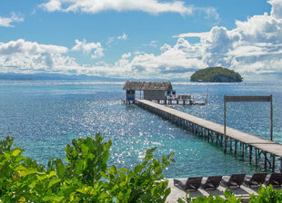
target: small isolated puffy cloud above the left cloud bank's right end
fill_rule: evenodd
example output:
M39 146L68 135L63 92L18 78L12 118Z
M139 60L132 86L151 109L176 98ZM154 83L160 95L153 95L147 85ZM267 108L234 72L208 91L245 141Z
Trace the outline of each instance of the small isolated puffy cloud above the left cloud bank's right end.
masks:
M104 56L103 47L101 43L87 43L86 39L83 41L76 40L76 45L72 51L82 51L83 53L91 53L91 58L97 59Z

